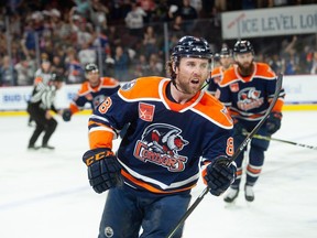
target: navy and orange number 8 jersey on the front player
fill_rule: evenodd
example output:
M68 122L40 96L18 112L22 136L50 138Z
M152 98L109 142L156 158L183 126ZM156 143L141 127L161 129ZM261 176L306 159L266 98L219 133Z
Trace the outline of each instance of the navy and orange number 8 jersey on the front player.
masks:
M132 80L89 118L91 149L111 148L130 123L117 152L121 173L127 185L149 194L188 193L199 177L199 162L233 152L226 107L204 90L184 105L173 102L168 84L162 77Z

